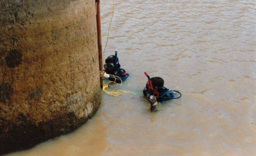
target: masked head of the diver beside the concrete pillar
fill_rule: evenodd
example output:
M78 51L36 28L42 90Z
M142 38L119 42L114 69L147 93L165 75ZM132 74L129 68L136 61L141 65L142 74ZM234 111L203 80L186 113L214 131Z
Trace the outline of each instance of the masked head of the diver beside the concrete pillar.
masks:
M110 55L107 57L105 62L106 64L104 65L104 68L109 74L115 74L115 71L117 71L120 67L118 57L115 55Z

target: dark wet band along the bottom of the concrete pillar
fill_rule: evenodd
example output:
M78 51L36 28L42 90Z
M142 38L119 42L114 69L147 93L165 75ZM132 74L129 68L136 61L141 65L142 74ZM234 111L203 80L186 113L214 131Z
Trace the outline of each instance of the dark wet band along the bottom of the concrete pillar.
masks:
M22 122L20 125L13 125L13 123L1 119L4 123L2 127L9 127L9 131L2 133L3 129L0 127L0 155L26 150L38 143L77 130L96 113L100 105L99 98L95 98L93 105L94 109L87 117L78 118L74 113L68 113L50 121L41 122L38 126L29 122L23 114L19 114L19 120Z

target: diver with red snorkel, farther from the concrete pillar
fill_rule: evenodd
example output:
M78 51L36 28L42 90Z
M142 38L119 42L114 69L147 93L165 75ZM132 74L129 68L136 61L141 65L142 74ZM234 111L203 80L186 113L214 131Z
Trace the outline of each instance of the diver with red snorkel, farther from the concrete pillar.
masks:
M157 111L157 102L166 101L168 99L177 99L182 96L179 91L170 90L164 87L164 81L161 77L150 78L146 72L145 75L149 80L146 83L146 87L143 89L143 94L151 104L151 111Z

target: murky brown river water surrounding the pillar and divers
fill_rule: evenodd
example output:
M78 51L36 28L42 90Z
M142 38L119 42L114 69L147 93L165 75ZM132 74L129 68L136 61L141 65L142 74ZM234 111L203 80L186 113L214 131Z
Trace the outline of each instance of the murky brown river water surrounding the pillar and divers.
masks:
M137 95L102 93L73 134L10 155L255 155L256 1L115 0L105 57L119 50ZM101 2L106 43L113 2ZM147 78L182 92L150 113Z

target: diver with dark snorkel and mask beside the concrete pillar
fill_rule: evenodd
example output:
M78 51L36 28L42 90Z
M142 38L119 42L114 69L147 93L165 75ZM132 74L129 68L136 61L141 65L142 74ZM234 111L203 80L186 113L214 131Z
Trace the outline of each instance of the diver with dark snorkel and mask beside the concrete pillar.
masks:
M121 69L121 65L119 64L119 59L117 57L117 50L115 50L115 55L110 55L105 60L106 64L104 65L103 73L101 74L101 78L109 79L109 81L121 83L126 80L129 76L128 73L124 69ZM117 76L117 77L115 77Z

